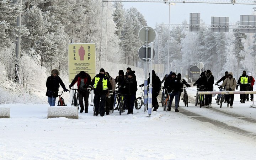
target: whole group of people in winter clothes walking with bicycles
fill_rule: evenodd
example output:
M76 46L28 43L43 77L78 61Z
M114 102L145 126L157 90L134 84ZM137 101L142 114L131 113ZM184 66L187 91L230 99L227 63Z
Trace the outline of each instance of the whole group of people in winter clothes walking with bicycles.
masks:
M223 81L220 87L225 87L228 91L238 90L238 86L240 86L240 91L252 91L254 86L254 78L251 73L246 75L246 71L243 71L242 75L239 77L238 81L233 77L232 72L225 72L225 75L218 80L215 85L218 85L219 82ZM157 97L161 90L161 84L164 82L163 89L167 90L166 94L170 94L170 103L169 103L169 111L171 109L172 101L175 98L175 112L179 112L179 102L180 96L183 92L183 86L191 87L185 79L182 78L181 74L174 72L170 72L170 74L166 74L164 79L160 81L159 77L155 74L155 71L152 71L152 107L154 107L153 111L157 111L159 105L157 101ZM79 74L75 76L69 88L73 87L77 83L78 88L78 99L80 104L80 113L85 112L88 113L89 106L89 95L91 90L94 90L94 105L95 105L95 115L105 116L109 115L110 110L113 107L114 97L113 94L116 94L116 85L118 88L118 92L121 94L125 94L125 109L128 110L127 114L133 114L134 101L136 99L137 92L137 80L135 76L135 71L132 71L129 67L126 70L126 74L124 74L123 70L119 70L118 76L116 78L112 78L108 72L105 72L103 68L100 69L99 73L91 79L91 76L87 74L85 71L81 71ZM148 84L150 83L150 78L148 78ZM198 88L203 87L204 91L213 91L214 85L214 77L210 70L203 71L200 75L200 78L193 84L197 85ZM53 69L51 71L51 76L47 78L46 87L47 92L46 96L48 96L48 103L50 106L55 106L56 97L58 97L59 87L62 86L65 92L68 91L66 89L63 81L59 77L59 71L57 69ZM144 84L139 85L140 87L144 86ZM219 87L219 88L220 88ZM250 95L250 100L253 100L253 94ZM84 102L83 102L84 101ZM245 101L249 101L249 94L240 95L240 102L245 103ZM225 102L227 102L227 107L233 108L234 102L234 94L225 95ZM203 102L203 106L207 108L212 107L212 95L205 95L205 103Z

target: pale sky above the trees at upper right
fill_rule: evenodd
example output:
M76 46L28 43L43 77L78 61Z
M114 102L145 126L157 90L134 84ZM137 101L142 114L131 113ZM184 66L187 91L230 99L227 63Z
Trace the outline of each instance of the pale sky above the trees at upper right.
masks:
M148 22L155 27L156 23L169 22L169 5L160 2L123 2L124 8L137 8ZM190 13L200 13L201 20L210 25L211 17L229 17L229 24L240 21L240 15L253 15L255 5L199 4L176 3L171 5L170 23L181 24L183 20L189 23Z

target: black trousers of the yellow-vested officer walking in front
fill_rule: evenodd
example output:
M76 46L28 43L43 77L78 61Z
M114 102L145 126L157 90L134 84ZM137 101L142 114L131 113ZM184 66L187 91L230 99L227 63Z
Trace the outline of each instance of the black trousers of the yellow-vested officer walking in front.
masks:
M105 115L106 94L94 94L95 111L100 112L101 116Z

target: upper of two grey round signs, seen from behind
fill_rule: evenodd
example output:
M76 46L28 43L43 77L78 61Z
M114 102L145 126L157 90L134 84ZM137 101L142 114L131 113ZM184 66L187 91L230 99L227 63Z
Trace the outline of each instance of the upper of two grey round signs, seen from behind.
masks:
M140 28L139 30L139 38L140 41L142 41L143 43L146 43L146 30L148 29L148 43L151 43L155 40L155 30L149 26L145 26Z

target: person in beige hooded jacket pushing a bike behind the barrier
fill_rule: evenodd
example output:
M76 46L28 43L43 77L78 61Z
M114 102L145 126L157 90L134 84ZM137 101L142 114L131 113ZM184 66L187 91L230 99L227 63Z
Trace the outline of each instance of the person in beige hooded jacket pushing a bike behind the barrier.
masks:
M235 80L235 78L233 78L233 73L232 72L228 73L228 78L226 78L223 81L222 85L220 85L219 88L225 87L225 86L226 86L227 91L235 91L236 80ZM234 96L235 96L234 94L226 95L226 101L228 102L227 107L229 107L229 105L230 105L230 108L233 108ZM230 98L230 100L229 100L229 98Z

